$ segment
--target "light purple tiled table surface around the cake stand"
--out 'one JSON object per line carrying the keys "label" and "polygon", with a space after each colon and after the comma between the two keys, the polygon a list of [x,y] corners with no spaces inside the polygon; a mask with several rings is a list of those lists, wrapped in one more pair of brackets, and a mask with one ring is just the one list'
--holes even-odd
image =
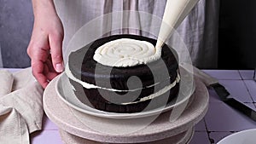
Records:
{"label": "light purple tiled table surface around the cake stand", "polygon": [[[15,71],[15,69],[10,69]],[[256,110],[256,82],[253,70],[204,70],[229,90],[230,95]],[[213,89],[208,112],[195,125],[195,134],[190,144],[215,144],[225,136],[241,130],[256,129],[256,122],[218,99]],[[32,144],[62,144],[57,126],[44,115],[43,130],[31,135]]]}

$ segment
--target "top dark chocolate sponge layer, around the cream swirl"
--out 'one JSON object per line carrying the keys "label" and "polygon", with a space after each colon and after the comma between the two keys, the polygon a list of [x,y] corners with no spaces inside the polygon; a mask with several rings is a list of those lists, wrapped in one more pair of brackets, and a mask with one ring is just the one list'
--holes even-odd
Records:
{"label": "top dark chocolate sponge layer, around the cream swirl", "polygon": [[[166,44],[162,48],[161,60],[155,60],[147,65],[127,67],[103,66],[93,60],[96,49],[104,43],[119,38],[132,38],[148,41],[155,45],[156,40],[136,35],[113,35],[103,37],[90,43],[69,55],[69,68],[74,77],[81,79],[88,84],[94,84],[108,89],[128,89],[127,80],[131,76],[140,78],[143,88],[158,82],[165,81],[162,70],[167,69],[171,83],[177,76],[177,54]],[[97,72],[95,72],[97,69]],[[154,72],[154,74],[152,73]],[[110,74],[106,74],[110,73]],[[156,81],[157,80],[157,81]],[[97,83],[96,83],[97,82]]]}

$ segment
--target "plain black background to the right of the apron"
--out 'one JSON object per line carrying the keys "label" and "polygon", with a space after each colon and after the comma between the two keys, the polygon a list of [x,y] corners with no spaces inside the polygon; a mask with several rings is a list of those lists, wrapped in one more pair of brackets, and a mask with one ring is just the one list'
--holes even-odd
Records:
{"label": "plain black background to the right of the apron", "polygon": [[256,68],[255,0],[220,1],[218,68]]}

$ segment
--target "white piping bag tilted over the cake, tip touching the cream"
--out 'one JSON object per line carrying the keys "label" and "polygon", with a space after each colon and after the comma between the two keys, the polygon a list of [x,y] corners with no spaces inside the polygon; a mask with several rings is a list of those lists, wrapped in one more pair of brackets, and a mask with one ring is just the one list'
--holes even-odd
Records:
{"label": "white piping bag tilted over the cake, tip touching the cream", "polygon": [[189,12],[199,0],[167,0],[166,9],[158,34],[156,49],[160,49],[166,39],[172,36]]}

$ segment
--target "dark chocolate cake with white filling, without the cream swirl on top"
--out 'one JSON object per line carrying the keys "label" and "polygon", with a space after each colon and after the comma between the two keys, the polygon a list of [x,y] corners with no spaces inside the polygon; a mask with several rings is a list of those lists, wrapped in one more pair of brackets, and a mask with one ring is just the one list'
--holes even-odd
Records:
{"label": "dark chocolate cake with white filling, without the cream swirl on top", "polygon": [[179,70],[177,54],[166,44],[160,59],[136,66],[106,66],[94,60],[103,44],[129,38],[155,45],[156,40],[137,35],[102,37],[69,55],[65,72],[79,101],[105,112],[142,112],[177,97]]}

